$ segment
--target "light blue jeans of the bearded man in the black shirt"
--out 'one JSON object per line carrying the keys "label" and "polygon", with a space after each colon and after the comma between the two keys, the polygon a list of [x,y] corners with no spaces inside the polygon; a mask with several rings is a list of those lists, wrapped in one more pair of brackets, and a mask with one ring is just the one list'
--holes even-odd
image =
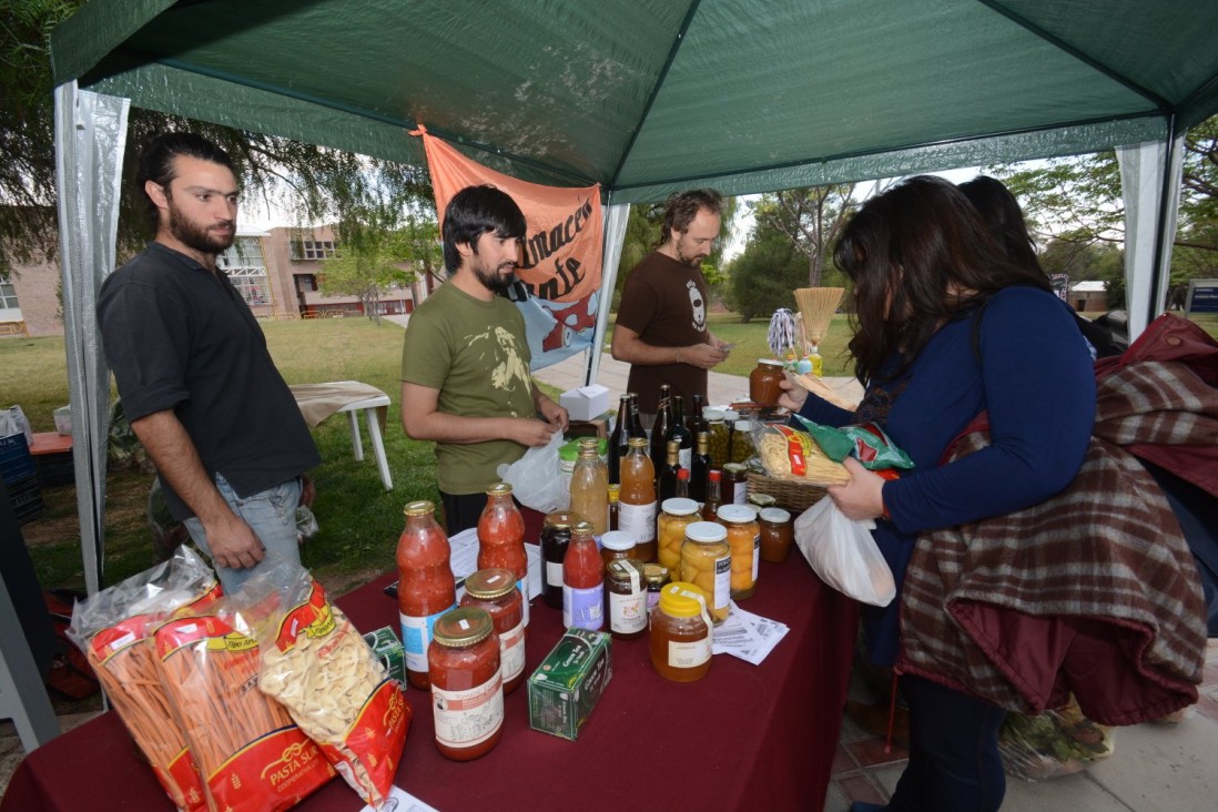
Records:
{"label": "light blue jeans of the bearded man in the black shirt", "polygon": [[[253,534],[267,548],[267,554],[262,561],[242,570],[218,566],[212,560],[212,566],[216,567],[216,575],[219,576],[220,584],[224,587],[227,594],[233,594],[252,576],[278,561],[287,560],[300,566],[301,551],[296,533],[296,506],[301,500],[300,477],[294,477],[286,482],[280,482],[273,488],[267,488],[261,493],[253,493],[242,498],[236,494],[233,486],[228,483],[228,480],[217,474],[216,489],[224,497],[224,502],[233,509],[233,513],[250,526]],[[199,545],[199,549],[207,558],[212,558],[212,550],[207,545],[207,532],[203,530],[203,523],[199,521],[199,517],[191,516],[184,523],[190,532],[190,537]]]}

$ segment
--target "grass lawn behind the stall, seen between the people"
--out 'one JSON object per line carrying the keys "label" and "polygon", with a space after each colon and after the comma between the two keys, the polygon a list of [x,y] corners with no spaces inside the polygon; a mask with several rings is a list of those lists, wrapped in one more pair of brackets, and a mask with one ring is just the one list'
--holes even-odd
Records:
{"label": "grass lawn behind the stall, seen between the people", "polygon": [[[1195,317],[1218,337],[1218,315]],[[741,324],[730,313],[713,313],[711,329],[736,342],[717,371],[748,375],[758,358],[769,357],[769,320]],[[313,511],[320,531],[302,555],[306,566],[336,594],[359,586],[393,566],[402,530],[402,506],[414,499],[438,499],[431,443],[407,439],[398,409],[398,364],[403,331],[389,321],[367,319],[264,323],[267,342],[284,377],[291,383],[356,380],[390,394],[385,450],[393,476],[386,492],[370,453],[357,463],[345,415],[335,415],[313,431],[323,463],[312,471],[317,482]],[[834,317],[821,353],[826,375],[850,375],[845,352],[850,327]],[[68,402],[63,340],[0,340],[0,404],[21,404],[34,431],[54,431],[52,411]],[[547,388],[557,394],[553,387]],[[365,449],[367,452],[367,449]],[[106,583],[114,583],[152,564],[146,500],[152,475],[111,470],[106,480]],[[46,589],[84,589],[80,564],[76,488],[43,488],[43,517],[22,528],[39,581]]]}

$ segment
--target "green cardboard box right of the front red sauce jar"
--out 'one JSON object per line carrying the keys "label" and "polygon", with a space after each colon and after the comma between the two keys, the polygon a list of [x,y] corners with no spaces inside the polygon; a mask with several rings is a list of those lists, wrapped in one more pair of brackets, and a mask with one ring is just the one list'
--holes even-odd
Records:
{"label": "green cardboard box right of the front red sauce jar", "polygon": [[575,741],[611,677],[609,634],[568,629],[529,677],[529,727]]}

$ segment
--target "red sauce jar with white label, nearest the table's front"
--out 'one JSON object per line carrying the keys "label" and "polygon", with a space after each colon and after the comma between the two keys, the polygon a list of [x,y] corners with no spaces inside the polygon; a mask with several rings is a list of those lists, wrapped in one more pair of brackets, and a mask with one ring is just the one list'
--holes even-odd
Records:
{"label": "red sauce jar with white label, nearest the table's front", "polygon": [[503,735],[499,638],[485,610],[465,606],[440,616],[428,674],[436,749],[453,761],[485,756]]}

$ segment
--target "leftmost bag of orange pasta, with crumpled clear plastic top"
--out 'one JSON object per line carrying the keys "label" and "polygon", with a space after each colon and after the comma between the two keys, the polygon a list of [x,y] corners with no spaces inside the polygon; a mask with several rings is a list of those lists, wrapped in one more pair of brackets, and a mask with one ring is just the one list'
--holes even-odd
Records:
{"label": "leftmost bag of orange pasta, with crumpled clear plastic top", "polygon": [[173,723],[149,638],[174,612],[206,609],[219,595],[211,567],[179,547],[168,561],[78,603],[67,629],[169,800],[188,812],[206,808],[203,784]]}

